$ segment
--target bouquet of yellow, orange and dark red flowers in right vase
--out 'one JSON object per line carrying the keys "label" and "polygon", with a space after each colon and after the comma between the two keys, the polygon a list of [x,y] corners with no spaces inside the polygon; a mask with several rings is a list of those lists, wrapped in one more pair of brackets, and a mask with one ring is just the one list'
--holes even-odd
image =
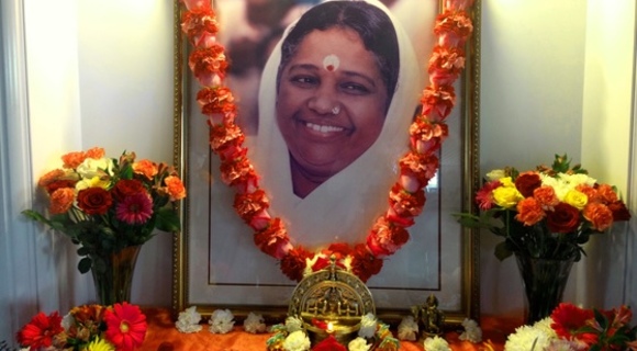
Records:
{"label": "bouquet of yellow, orange and dark red flowers in right vase", "polygon": [[[456,215],[467,227],[487,228],[504,238],[495,256],[513,252],[532,258],[579,261],[592,234],[606,231],[630,213],[615,188],[599,183],[567,155],[556,155],[551,167],[519,172],[513,167],[487,174],[476,194],[480,215]],[[496,225],[494,218],[502,225]]]}

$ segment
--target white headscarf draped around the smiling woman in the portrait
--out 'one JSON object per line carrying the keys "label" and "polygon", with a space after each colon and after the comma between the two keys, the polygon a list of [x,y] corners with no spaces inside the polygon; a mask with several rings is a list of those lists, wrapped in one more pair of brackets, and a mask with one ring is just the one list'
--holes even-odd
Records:
{"label": "white headscarf draped around the smiling woman in the portrait", "polygon": [[388,208],[389,191],[398,180],[398,160],[409,147],[409,126],[418,104],[422,70],[410,38],[389,10],[379,1],[366,2],[382,9],[396,32],[400,69],[395,93],[375,144],[304,199],[293,193],[289,151],[276,121],[281,42],[294,23],[275,47],[261,77],[259,131],[250,157],[261,176],[260,184],[269,194],[270,214],[286,222],[294,245],[306,248],[361,242],[376,218]]}

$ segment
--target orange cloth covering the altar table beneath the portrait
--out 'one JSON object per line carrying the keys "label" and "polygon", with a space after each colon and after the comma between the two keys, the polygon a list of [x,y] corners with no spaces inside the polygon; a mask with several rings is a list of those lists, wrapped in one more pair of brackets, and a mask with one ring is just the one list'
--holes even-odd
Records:
{"label": "orange cloth covering the altar table beneath the portrait", "polygon": [[[208,330],[208,325],[203,325],[202,330],[194,333],[182,333],[175,327],[175,319],[170,310],[163,308],[144,308],[144,314],[148,322],[146,339],[139,349],[141,351],[265,351],[266,341],[271,333],[249,333],[243,330],[242,326],[235,326],[228,333],[212,333]],[[519,324],[514,320],[498,318],[482,318],[481,343],[471,343],[458,339],[459,332],[448,332],[445,339],[454,351],[481,351],[503,350],[506,336],[511,333]],[[401,349],[405,351],[423,351],[423,342],[401,341]]]}

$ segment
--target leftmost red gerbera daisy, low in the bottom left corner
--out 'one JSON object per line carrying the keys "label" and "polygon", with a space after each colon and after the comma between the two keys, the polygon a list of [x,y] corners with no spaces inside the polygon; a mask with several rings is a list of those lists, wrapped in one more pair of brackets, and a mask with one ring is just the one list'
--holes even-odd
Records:
{"label": "leftmost red gerbera daisy, low in the bottom left corner", "polygon": [[35,315],[31,321],[18,332],[18,342],[22,347],[32,350],[48,348],[53,343],[53,337],[64,331],[62,317],[57,312],[46,316],[44,313]]}

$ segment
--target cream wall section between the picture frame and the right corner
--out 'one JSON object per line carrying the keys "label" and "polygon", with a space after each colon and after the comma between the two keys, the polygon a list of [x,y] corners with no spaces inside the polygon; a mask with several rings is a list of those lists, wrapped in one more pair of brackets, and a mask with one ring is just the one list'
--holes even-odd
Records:
{"label": "cream wall section between the picture frame and the right corner", "polygon": [[[519,170],[581,155],[586,2],[488,0],[482,3],[480,167]],[[493,256],[500,241],[481,235],[483,314],[521,316],[514,259]],[[506,282],[506,283],[503,283]],[[569,279],[565,298],[574,297]]]}

